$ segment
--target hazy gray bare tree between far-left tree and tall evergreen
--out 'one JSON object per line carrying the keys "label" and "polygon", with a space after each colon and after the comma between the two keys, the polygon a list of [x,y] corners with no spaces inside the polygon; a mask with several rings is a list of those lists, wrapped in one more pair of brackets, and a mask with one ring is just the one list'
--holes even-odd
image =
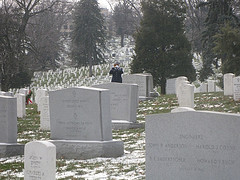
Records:
{"label": "hazy gray bare tree between far-left tree and tall evergreen", "polygon": [[[46,6],[46,4],[42,4]],[[47,10],[32,17],[27,27],[27,34],[32,42],[33,51],[29,58],[34,60],[34,70],[55,69],[56,60],[64,49],[62,26],[69,20],[73,5],[69,2],[57,3],[54,10]]]}

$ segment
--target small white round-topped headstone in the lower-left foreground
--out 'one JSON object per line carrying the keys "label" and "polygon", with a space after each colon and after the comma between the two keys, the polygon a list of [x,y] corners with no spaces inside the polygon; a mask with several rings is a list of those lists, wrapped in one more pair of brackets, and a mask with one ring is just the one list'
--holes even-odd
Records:
{"label": "small white round-topped headstone in the lower-left foreground", "polygon": [[25,145],[24,180],[56,179],[56,147],[48,141],[33,141]]}

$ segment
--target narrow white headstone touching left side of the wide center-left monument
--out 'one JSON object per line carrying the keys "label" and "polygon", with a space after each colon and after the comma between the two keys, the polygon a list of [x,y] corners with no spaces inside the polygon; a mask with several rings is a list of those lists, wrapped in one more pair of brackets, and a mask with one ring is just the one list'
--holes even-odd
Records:
{"label": "narrow white headstone touching left side of the wide center-left monument", "polygon": [[49,96],[42,97],[40,102],[40,129],[50,130]]}

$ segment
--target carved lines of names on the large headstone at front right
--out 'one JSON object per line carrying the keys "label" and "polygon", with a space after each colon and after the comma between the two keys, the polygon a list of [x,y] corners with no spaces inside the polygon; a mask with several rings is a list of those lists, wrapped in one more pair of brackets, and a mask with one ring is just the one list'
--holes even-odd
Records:
{"label": "carved lines of names on the large headstone at front right", "polygon": [[[185,140],[188,140],[186,143]],[[199,156],[196,156],[196,158],[193,160],[189,156],[159,156],[159,155],[151,155],[149,156],[149,161],[154,161],[157,163],[181,163],[181,166],[179,166],[179,170],[181,171],[190,171],[190,170],[201,170],[205,171],[207,170],[204,167],[201,166],[211,166],[212,168],[225,168],[226,166],[232,166],[235,164],[234,159],[222,159],[221,154],[222,153],[236,153],[239,148],[236,145],[228,145],[228,144],[206,144],[207,137],[204,138],[203,134],[180,134],[177,139],[175,139],[174,143],[147,143],[146,147],[151,151],[160,151],[165,152],[166,154],[175,154],[174,152],[180,152],[179,154],[185,154],[187,153],[181,153],[187,152],[187,151],[194,151],[194,152],[200,152]],[[206,158],[201,157],[200,154],[204,153],[214,153],[215,155],[219,156],[218,158]],[[162,153],[159,153],[162,154]],[[196,164],[196,167],[188,167],[188,164],[193,161],[194,164]],[[185,164],[185,167],[183,167],[183,164]]]}

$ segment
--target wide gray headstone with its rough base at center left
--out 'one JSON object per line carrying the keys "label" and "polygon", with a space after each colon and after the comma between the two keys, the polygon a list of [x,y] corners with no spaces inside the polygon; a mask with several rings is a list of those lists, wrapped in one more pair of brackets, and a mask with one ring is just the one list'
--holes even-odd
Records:
{"label": "wide gray headstone with its rough base at center left", "polygon": [[49,93],[51,141],[58,158],[119,157],[122,141],[112,140],[110,94],[100,88],[68,88]]}

